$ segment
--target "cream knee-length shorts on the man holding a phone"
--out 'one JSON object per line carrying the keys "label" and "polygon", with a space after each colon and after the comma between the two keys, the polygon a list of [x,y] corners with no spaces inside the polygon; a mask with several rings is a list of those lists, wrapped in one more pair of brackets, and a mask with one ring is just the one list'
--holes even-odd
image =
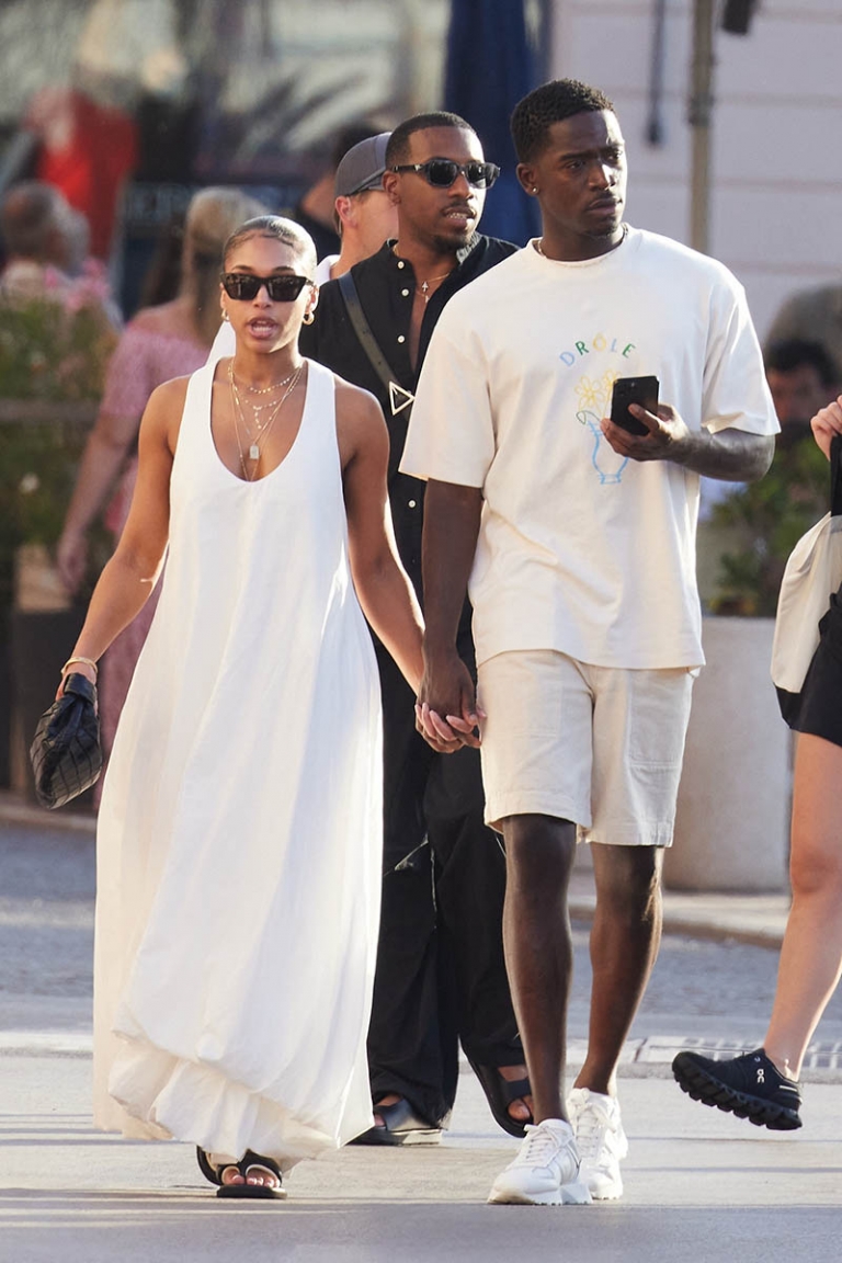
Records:
{"label": "cream knee-length shorts on the man holding a phone", "polygon": [[579,841],[669,846],[696,673],[592,667],[553,649],[483,662],[486,821],[555,816]]}

